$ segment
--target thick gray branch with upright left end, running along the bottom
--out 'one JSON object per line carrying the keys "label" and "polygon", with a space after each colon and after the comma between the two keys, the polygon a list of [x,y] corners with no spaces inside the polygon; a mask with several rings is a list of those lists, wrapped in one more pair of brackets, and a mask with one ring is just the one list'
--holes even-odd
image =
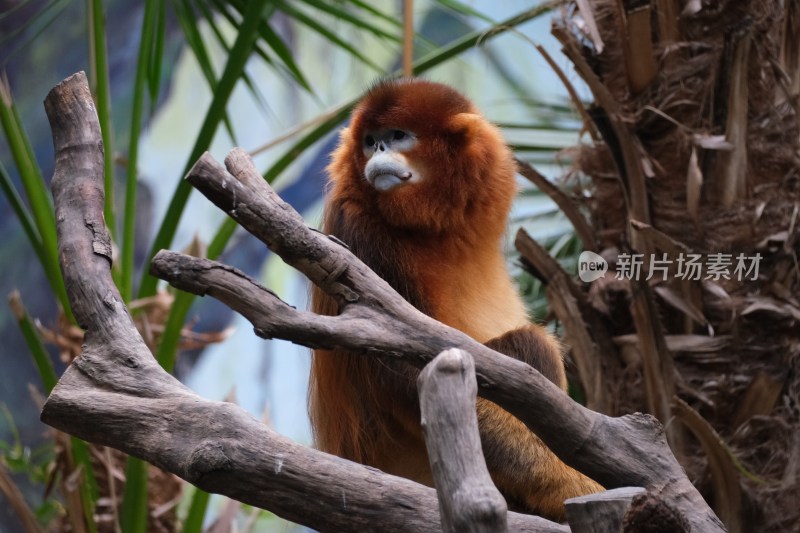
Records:
{"label": "thick gray branch with upright left end, running along the bottom", "polygon": [[[86,338],[42,420],[318,530],[441,531],[433,489],[300,446],[236,405],[198,397],[156,363],[111,279],[102,143],[83,73],[56,86],[45,106],[59,257]],[[508,522],[519,531],[563,531],[517,513]]]}

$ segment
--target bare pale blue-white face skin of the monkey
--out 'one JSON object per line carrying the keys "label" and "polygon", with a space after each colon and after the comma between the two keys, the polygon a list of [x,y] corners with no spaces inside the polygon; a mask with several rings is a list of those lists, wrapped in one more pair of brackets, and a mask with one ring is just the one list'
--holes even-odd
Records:
{"label": "bare pale blue-white face skin of the monkey", "polygon": [[367,164],[364,178],[381,192],[422,180],[403,152],[417,144],[417,137],[407,130],[382,129],[364,135],[364,155]]}

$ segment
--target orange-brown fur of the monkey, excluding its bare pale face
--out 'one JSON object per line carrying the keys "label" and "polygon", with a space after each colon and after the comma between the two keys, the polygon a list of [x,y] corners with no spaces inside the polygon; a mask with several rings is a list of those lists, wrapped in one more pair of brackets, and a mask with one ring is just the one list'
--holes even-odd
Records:
{"label": "orange-brown fur of the monkey, excluding its bare pale face", "polygon": [[[403,155],[421,172],[419,183],[378,191],[364,178],[362,140],[381,128],[417,136]],[[341,134],[328,167],[322,229],[421,311],[533,364],[564,388],[558,343],[529,324],[505,268],[501,241],[516,194],[514,168],[497,128],[455,90],[421,80],[384,82],[367,93]],[[312,304],[318,313],[339,312],[319,290]],[[317,445],[431,484],[417,374],[397,362],[315,351],[309,410]],[[558,517],[563,497],[599,489],[491,402],[479,399],[478,415],[490,472],[511,502]]]}

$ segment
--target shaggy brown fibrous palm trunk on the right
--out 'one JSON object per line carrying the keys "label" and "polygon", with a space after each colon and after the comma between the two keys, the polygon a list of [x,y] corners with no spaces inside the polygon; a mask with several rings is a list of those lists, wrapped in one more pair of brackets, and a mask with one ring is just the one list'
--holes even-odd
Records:
{"label": "shaggy brown fibrous palm trunk on the right", "polygon": [[586,128],[599,138],[566,185],[589,215],[584,245],[609,264],[548,290],[577,378],[596,408],[665,424],[729,531],[796,531],[800,2],[579,0],[564,12],[553,31],[592,92]]}

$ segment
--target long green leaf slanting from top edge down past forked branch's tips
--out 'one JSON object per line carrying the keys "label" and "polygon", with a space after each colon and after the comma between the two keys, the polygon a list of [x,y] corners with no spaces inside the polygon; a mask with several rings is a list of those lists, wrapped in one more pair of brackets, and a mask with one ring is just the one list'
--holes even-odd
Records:
{"label": "long green leaf slanting from top edge down past forked branch's tips", "polygon": [[[231,53],[228,56],[228,61],[225,65],[225,70],[217,85],[217,91],[209,106],[208,113],[206,113],[205,121],[200,128],[200,133],[195,141],[194,148],[189,155],[189,160],[183,171],[183,175],[189,172],[195,161],[202,155],[202,153],[211,144],[214,138],[217,126],[222,118],[225,116],[225,108],[233,92],[236,82],[241,78],[244,71],[247,59],[253,51],[256,38],[258,37],[258,24],[261,20],[266,9],[270,11],[274,8],[270,6],[269,0],[251,0],[247,5],[244,19],[242,21],[239,35],[236,37]],[[167,213],[158,230],[153,245],[148,253],[148,261],[162,248],[169,247],[175,236],[178,221],[183,214],[183,209],[189,199],[191,187],[183,180],[178,183],[175,193],[172,196],[172,201],[167,208]],[[141,287],[139,288],[139,296],[152,296],[156,291],[156,284],[158,280],[151,276],[145,269],[142,278]]]}

